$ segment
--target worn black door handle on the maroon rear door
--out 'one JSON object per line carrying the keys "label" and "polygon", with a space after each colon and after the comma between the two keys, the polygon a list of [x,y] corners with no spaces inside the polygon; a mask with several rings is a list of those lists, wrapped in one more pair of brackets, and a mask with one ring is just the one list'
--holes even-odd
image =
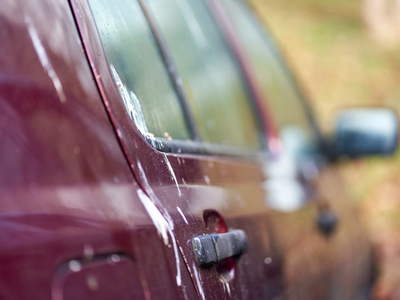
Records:
{"label": "worn black door handle on the maroon rear door", "polygon": [[226,233],[211,233],[191,239],[194,256],[199,267],[212,265],[225,258],[243,254],[248,248],[247,235],[236,229]]}

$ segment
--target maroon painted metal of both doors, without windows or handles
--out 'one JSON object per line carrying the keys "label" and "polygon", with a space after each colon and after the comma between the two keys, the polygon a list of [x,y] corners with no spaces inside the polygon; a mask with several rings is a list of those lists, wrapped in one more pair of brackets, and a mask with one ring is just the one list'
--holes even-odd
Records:
{"label": "maroon painted metal of both doors, without windows or handles", "polygon": [[[81,5],[79,9],[88,8],[85,3]],[[325,193],[326,186],[340,186],[340,182],[334,182],[334,173],[326,169],[330,175],[316,179],[322,183],[308,182],[301,187],[309,190],[305,203],[291,212],[279,212],[270,209],[269,198],[274,196],[265,187],[269,180],[281,175],[273,172],[282,159],[279,155],[268,163],[265,157],[238,159],[155,151],[128,118],[106,61],[101,55],[95,55],[102,50],[100,40],[92,35],[95,24],[90,18],[78,19],[78,23],[132,170],[164,217],[172,220],[179,250],[200,298],[268,298],[276,294],[289,298],[303,294],[315,299],[352,298],[360,287],[367,286],[369,246],[359,224],[353,223],[354,214],[345,203],[345,195],[339,195],[344,201],[337,201],[332,195],[327,199],[319,196],[320,190]],[[241,59],[245,65],[245,57]],[[325,172],[322,167],[320,173]],[[300,177],[294,174],[293,179],[300,180]],[[318,196],[311,199],[312,194]],[[331,238],[323,236],[316,226],[319,207],[328,207],[340,217],[338,232]],[[194,263],[188,241],[207,232],[202,222],[205,210],[220,213],[230,228],[250,232],[250,252],[238,260],[230,281],[221,279],[213,267],[198,269]],[[346,243],[353,239],[360,240],[360,247],[351,253],[345,249]]]}

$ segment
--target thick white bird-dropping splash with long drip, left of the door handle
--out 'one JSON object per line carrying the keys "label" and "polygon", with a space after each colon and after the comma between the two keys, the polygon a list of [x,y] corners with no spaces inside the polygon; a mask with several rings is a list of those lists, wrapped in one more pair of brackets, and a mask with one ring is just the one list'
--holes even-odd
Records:
{"label": "thick white bird-dropping splash with long drip, left of the door handle", "polygon": [[169,238],[167,233],[169,233],[171,237],[173,250],[175,252],[175,260],[176,260],[176,284],[180,286],[182,284],[182,280],[180,277],[180,261],[179,261],[179,253],[176,245],[175,236],[173,235],[172,232],[173,227],[170,226],[168,221],[158,210],[157,206],[155,206],[155,204],[141,189],[137,190],[137,195],[139,196],[140,201],[143,203],[147,213],[150,215],[150,218],[153,221],[154,226],[157,228],[158,233],[162,236],[165,245],[169,245]]}

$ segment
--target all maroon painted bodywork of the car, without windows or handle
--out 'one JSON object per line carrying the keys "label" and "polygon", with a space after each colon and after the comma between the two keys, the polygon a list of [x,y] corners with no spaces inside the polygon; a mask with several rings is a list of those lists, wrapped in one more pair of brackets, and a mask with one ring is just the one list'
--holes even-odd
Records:
{"label": "all maroon painted bodywork of the car, without windows or handle", "polygon": [[[6,0],[0,34],[1,298],[351,299],[367,283],[369,245],[334,170],[318,166],[301,185],[314,196],[278,211],[267,186],[279,156],[144,140],[86,1]],[[326,207],[339,218],[330,237],[315,225]],[[191,238],[229,229],[248,251],[198,268]]]}

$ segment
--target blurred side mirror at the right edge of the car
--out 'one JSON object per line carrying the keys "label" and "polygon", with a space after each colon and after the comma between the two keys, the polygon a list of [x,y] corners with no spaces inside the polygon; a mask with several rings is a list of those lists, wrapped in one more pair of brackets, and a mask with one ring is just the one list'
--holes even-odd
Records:
{"label": "blurred side mirror at the right edge of the car", "polygon": [[329,152],[340,156],[391,155],[397,148],[398,120],[388,108],[342,110],[336,118]]}

